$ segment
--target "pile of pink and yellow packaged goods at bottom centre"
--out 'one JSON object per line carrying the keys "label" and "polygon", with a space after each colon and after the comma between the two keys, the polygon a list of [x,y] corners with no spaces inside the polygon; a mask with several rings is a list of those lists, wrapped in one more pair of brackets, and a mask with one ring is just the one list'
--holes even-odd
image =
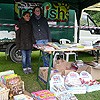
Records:
{"label": "pile of pink and yellow packaged goods at bottom centre", "polygon": [[35,100],[57,100],[52,92],[49,90],[41,90],[37,92],[32,92],[32,97]]}

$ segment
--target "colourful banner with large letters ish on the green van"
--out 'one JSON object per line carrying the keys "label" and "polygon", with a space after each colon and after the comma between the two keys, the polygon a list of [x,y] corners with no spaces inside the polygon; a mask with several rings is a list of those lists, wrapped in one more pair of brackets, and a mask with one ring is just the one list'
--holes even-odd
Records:
{"label": "colourful banner with large letters ish on the green van", "polygon": [[44,17],[50,21],[68,21],[69,5],[50,2],[15,2],[15,19],[21,18],[25,11],[29,11],[32,15],[35,6],[41,6]]}

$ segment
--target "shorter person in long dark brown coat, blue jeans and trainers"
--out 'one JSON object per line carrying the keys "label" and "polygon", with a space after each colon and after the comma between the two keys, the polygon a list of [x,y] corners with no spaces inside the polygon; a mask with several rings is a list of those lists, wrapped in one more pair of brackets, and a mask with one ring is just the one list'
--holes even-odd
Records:
{"label": "shorter person in long dark brown coat, blue jeans and trainers", "polygon": [[23,13],[23,17],[15,25],[16,46],[22,53],[22,68],[25,74],[33,73],[31,66],[31,52],[33,45],[32,25],[29,22],[30,13]]}

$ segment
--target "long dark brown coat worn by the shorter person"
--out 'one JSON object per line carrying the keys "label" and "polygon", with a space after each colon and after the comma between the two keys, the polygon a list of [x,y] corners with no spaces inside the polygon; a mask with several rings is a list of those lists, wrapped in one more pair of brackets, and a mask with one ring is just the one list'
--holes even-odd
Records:
{"label": "long dark brown coat worn by the shorter person", "polygon": [[30,50],[33,45],[32,25],[23,18],[18,22],[16,31],[16,46],[21,50]]}

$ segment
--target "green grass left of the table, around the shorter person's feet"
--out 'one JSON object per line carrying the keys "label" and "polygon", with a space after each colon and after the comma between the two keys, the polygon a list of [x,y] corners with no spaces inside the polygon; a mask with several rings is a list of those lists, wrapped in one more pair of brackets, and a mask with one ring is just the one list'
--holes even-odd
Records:
{"label": "green grass left of the table, around the shorter person's feet", "polygon": [[8,59],[6,60],[5,54],[0,52],[0,72],[6,70],[14,70],[14,72],[21,76],[22,80],[25,83],[25,89],[28,92],[38,91],[41,90],[37,79],[37,68],[38,68],[38,56],[39,52],[35,51],[32,53],[32,69],[34,70],[34,74],[25,75],[22,71],[22,64],[21,63],[14,63]]}

